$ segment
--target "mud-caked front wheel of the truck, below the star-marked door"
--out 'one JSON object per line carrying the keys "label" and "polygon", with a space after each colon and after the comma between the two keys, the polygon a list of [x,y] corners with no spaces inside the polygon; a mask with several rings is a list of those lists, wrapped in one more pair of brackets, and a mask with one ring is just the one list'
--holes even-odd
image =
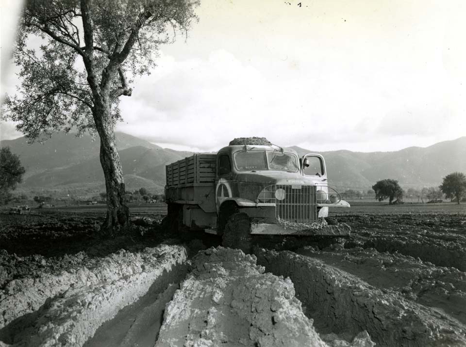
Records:
{"label": "mud-caked front wheel of the truck, below the star-marked door", "polygon": [[251,221],[246,213],[234,213],[230,216],[223,231],[222,245],[237,248],[246,254],[252,250]]}

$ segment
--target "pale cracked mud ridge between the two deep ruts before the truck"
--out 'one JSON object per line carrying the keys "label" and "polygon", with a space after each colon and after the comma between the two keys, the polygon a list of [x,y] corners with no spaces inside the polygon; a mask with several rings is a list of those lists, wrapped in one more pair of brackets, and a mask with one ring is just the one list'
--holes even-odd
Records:
{"label": "pale cracked mud ridge between the two deep ruts before the truck", "polygon": [[255,256],[201,251],[166,307],[156,346],[327,346],[294,293],[288,278],[264,273]]}

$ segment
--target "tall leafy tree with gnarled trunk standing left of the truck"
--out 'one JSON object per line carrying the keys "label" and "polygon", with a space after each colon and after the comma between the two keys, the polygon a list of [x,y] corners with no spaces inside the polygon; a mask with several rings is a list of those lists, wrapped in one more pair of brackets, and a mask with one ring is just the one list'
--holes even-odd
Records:
{"label": "tall leafy tree with gnarled trunk standing left of the truck", "polygon": [[[129,226],[129,209],[114,126],[118,100],[131,96],[133,78],[155,66],[160,44],[186,33],[197,0],[28,0],[19,23],[14,60],[19,95],[7,95],[3,117],[31,141],[53,131],[98,133],[107,191],[101,232]],[[171,34],[173,32],[173,35]],[[27,47],[40,37],[40,49]],[[129,78],[128,78],[129,76]]]}

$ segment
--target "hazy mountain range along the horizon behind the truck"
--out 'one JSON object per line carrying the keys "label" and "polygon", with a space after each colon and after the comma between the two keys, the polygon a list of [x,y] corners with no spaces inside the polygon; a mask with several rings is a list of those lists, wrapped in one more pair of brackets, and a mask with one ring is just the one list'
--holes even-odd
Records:
{"label": "hazy mountain range along the horizon behind the truck", "polygon": [[[116,144],[127,189],[145,187],[161,192],[165,186],[165,165],[192,155],[191,152],[162,148],[137,137],[117,132]],[[99,160],[100,143],[88,135],[57,133],[41,143],[28,144],[22,137],[0,142],[17,154],[26,169],[22,189],[104,190]],[[337,189],[370,189],[384,178],[399,181],[401,187],[438,186],[455,171],[466,173],[466,137],[439,142],[429,147],[409,147],[394,152],[316,152],[293,146],[300,156],[324,156],[329,182]]]}

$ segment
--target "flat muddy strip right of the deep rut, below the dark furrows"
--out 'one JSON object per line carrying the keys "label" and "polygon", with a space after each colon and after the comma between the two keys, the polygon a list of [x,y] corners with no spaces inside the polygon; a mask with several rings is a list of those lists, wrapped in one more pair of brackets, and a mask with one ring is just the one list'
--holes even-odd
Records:
{"label": "flat muddy strip right of the deep rut, below the dark furrows", "polygon": [[306,247],[296,252],[344,270],[381,290],[396,291],[406,300],[440,309],[466,324],[466,273],[456,268],[359,247],[328,252]]}

